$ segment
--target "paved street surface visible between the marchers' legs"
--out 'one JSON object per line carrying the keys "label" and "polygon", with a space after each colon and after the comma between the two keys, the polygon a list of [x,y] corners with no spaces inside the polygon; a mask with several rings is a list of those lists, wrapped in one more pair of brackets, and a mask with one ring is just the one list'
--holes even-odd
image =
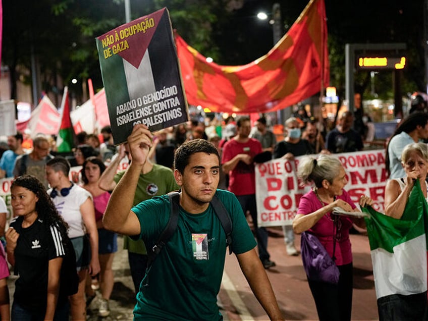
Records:
{"label": "paved street surface visible between the marchers' legs", "polygon": [[[274,287],[279,305],[288,320],[316,320],[315,304],[307,285],[301,257],[290,257],[285,252],[281,228],[270,228],[269,251],[271,259],[277,266],[267,271]],[[299,246],[300,237],[296,236]],[[123,239],[119,237],[119,248]],[[352,308],[353,320],[377,320],[376,294],[374,293],[373,275],[368,240],[365,235],[351,235],[354,255],[354,297]],[[116,253],[113,269],[115,286],[110,301],[111,314],[98,317],[98,301],[94,299],[88,309],[88,320],[132,320],[135,304],[133,285],[128,266],[128,255],[124,250]],[[13,282],[9,280],[11,297]],[[97,293],[99,296],[99,293]],[[267,316],[254,298],[243,277],[236,257],[227,255],[222,288],[219,294],[219,306],[225,320],[266,320]]]}

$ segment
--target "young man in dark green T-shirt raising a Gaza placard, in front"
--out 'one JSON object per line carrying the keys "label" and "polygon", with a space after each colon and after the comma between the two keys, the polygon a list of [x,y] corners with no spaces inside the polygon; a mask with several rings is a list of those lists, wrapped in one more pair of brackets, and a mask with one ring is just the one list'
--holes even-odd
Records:
{"label": "young man in dark green T-shirt raising a Gaza placard, in front", "polygon": [[[171,213],[167,195],[132,207],[138,177],[152,145],[151,137],[144,125],[136,125],[128,137],[132,162],[113,191],[103,218],[106,229],[143,238],[149,248],[156,244]],[[217,189],[220,164],[215,146],[203,139],[185,142],[176,151],[174,165],[174,177],[181,187],[177,228],[153,261],[153,269],[147,271],[145,286],[140,287],[137,295],[135,319],[222,319],[216,296],[227,243],[210,204],[217,195],[230,215],[230,246],[248,283],[269,317],[283,320],[237,199]]]}

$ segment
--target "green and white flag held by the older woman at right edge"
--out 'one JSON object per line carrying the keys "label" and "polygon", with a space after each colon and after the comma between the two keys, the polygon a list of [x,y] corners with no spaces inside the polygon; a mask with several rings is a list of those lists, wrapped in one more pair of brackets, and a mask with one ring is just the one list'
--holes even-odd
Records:
{"label": "green and white flag held by the older woman at right edge", "polygon": [[377,298],[427,290],[428,205],[415,184],[400,220],[363,208]]}

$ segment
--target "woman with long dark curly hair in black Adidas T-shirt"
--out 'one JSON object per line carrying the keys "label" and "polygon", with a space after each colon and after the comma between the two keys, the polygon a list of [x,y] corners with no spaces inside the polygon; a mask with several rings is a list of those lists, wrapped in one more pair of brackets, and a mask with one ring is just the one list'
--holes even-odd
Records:
{"label": "woman with long dark curly hair in black Adidas T-shirt", "polygon": [[68,225],[34,176],[15,179],[11,203],[17,217],[6,232],[7,253],[19,274],[12,320],[68,319],[67,295],[60,292]]}

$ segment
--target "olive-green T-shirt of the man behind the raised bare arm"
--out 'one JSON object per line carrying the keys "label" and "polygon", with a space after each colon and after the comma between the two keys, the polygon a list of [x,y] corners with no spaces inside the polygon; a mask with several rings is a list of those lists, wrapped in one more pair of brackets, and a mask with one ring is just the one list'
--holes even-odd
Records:
{"label": "olive-green T-shirt of the man behind the raised bare arm", "polygon": [[[115,175],[115,182],[118,183],[125,171]],[[165,166],[153,164],[153,168],[147,174],[140,174],[135,190],[134,202],[135,206],[139,202],[150,199],[153,196],[164,195],[169,192],[178,190],[173,171]],[[138,254],[147,254],[146,247],[142,240],[134,241],[128,236],[124,236],[123,248],[129,252]]]}

